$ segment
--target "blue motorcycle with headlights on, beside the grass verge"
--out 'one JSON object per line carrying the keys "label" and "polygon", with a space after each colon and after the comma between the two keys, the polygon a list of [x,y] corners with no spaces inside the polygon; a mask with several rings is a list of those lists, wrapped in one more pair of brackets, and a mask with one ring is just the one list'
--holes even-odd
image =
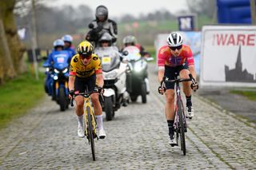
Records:
{"label": "blue motorcycle with headlights on, beside the grass verge", "polygon": [[[68,78],[69,78],[69,65],[63,57],[59,57],[54,65],[47,65],[46,76],[50,76],[49,81],[45,84],[45,89],[52,100],[56,101],[60,106],[61,111],[65,111],[69,107],[69,91],[68,91]],[[65,63],[65,64],[64,64]]]}

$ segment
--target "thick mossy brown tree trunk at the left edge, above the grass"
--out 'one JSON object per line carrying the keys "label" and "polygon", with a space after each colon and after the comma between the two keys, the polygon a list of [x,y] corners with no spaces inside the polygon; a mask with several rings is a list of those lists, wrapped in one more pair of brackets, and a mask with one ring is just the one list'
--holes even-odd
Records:
{"label": "thick mossy brown tree trunk at the left edge, above the grass", "polygon": [[22,70],[25,48],[18,38],[14,6],[15,0],[0,1],[0,83],[15,77]]}

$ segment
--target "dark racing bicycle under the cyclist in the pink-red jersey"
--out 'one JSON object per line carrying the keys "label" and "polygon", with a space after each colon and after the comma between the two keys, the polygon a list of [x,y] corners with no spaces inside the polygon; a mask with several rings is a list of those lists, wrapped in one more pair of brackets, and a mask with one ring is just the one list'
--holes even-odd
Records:
{"label": "dark racing bicycle under the cyclist in the pink-red jersey", "polygon": [[169,80],[168,77],[163,77],[162,85],[161,85],[162,88],[165,88],[166,82],[175,83],[176,104],[175,104],[175,117],[174,117],[174,132],[176,132],[177,145],[178,145],[178,138],[180,138],[181,149],[184,156],[186,155],[185,132],[187,132],[187,128],[186,128],[186,116],[184,112],[184,106],[182,103],[181,89],[180,89],[179,83],[182,81],[192,81],[192,85],[197,85],[197,83],[194,81],[194,77],[192,77],[192,74],[189,74],[189,76],[190,78],[178,78],[178,73],[176,73],[174,80]]}

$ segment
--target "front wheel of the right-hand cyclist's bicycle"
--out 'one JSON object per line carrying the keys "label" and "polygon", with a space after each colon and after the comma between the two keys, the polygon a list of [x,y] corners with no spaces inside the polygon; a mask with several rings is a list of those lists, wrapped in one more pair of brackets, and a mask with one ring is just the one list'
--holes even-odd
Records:
{"label": "front wheel of the right-hand cyclist's bicycle", "polygon": [[186,155],[186,140],[185,140],[185,127],[184,127],[184,120],[183,120],[184,109],[182,105],[182,101],[178,100],[178,124],[180,128],[180,139],[181,139],[181,149],[183,155]]}

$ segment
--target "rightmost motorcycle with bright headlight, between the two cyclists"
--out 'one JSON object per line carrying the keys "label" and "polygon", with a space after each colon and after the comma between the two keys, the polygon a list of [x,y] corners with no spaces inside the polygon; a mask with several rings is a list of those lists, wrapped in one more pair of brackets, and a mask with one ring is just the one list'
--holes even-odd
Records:
{"label": "rightmost motorcycle with bright headlight, between the two cyclists", "polygon": [[123,60],[128,61],[130,71],[127,73],[127,92],[130,100],[137,101],[138,96],[142,96],[142,103],[146,103],[146,95],[150,93],[150,82],[147,77],[147,61],[152,61],[153,57],[142,57],[138,47],[134,45],[123,49],[126,56]]}

